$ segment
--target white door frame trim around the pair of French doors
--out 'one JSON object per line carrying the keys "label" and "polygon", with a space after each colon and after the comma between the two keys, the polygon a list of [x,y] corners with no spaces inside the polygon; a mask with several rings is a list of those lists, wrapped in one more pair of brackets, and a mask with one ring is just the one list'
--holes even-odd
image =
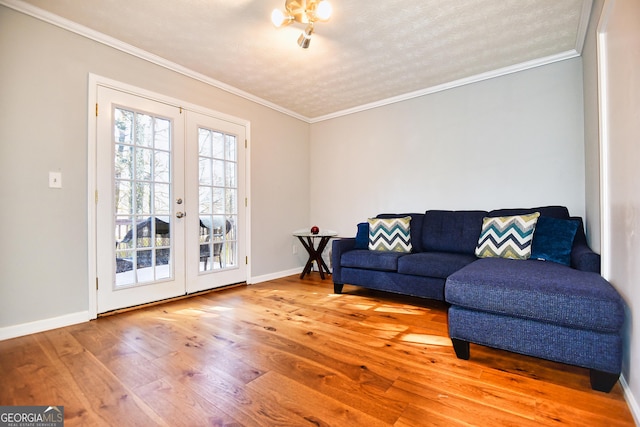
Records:
{"label": "white door frame trim around the pair of French doors", "polygon": [[169,96],[158,94],[156,92],[148,91],[136,86],[132,86],[126,83],[122,83],[116,80],[112,80],[106,77],[102,77],[93,73],[89,74],[89,96],[88,96],[88,126],[87,126],[87,287],[89,291],[89,318],[95,319],[98,317],[98,301],[97,301],[97,128],[98,119],[96,112],[98,86],[104,86],[111,89],[127,92],[132,95],[142,96],[151,99],[156,102],[175,105],[184,110],[198,112],[213,116],[220,120],[225,120],[231,123],[235,123],[244,126],[246,129],[245,136],[247,140],[245,153],[245,194],[246,194],[246,217],[245,224],[243,224],[246,233],[244,245],[246,248],[247,265],[246,265],[246,281],[249,284],[249,278],[251,277],[251,165],[250,165],[250,148],[251,148],[251,123],[248,120],[240,119],[228,114],[220,113],[199,105],[184,102]]}

